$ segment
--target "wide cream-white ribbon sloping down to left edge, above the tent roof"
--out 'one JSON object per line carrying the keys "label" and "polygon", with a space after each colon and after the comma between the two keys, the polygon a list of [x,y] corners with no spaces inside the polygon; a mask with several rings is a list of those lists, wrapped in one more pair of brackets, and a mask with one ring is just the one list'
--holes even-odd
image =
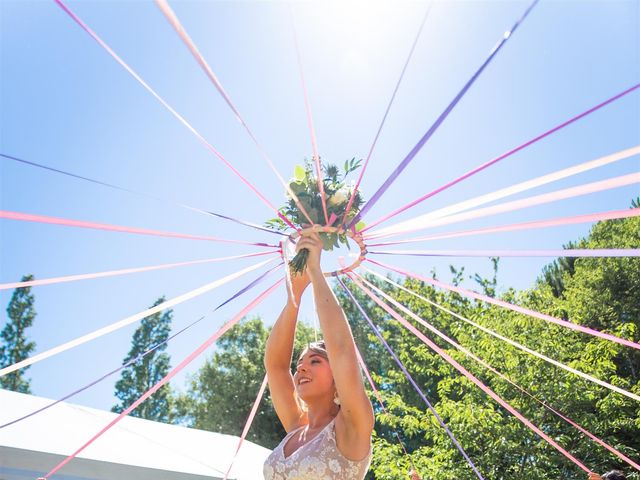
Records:
{"label": "wide cream-white ribbon sloping down to left edge, above the tent roof", "polygon": [[53,347],[49,350],[45,350],[42,353],[38,353],[20,362],[14,363],[13,365],[9,365],[8,367],[5,367],[0,370],[0,377],[8,373],[11,373],[15,370],[19,370],[21,368],[28,367],[29,365],[33,365],[34,363],[40,362],[46,358],[65,352],[71,348],[77,347],[91,340],[95,340],[96,338],[99,338],[108,333],[115,332],[116,330],[126,327],[127,325],[130,325],[132,323],[135,323],[138,320],[142,320],[143,318],[148,317],[149,315],[153,315],[154,313],[161,312],[162,310],[178,305],[179,303],[182,303],[186,300],[191,300],[192,298],[202,295],[203,293],[210,292],[211,290],[214,290],[226,283],[229,283],[230,281],[235,280],[236,278],[241,277],[253,270],[257,270],[258,268],[263,267],[275,260],[277,260],[277,258],[272,258],[270,260],[257,263],[256,265],[245,268],[244,270],[240,270],[239,272],[235,272],[235,273],[232,273],[231,275],[227,275],[226,277],[218,279],[215,282],[211,282],[207,285],[196,288],[195,290],[191,290],[190,292],[174,297],[171,300],[162,302],[161,304],[156,305],[155,307],[149,308],[147,310],[143,310],[142,312],[131,315],[130,317],[127,317],[123,320],[112,323],[111,325],[108,325],[103,328],[99,328],[98,330],[94,330],[91,333],[78,337],[74,340],[70,340],[66,343],[58,345],[57,347]]}

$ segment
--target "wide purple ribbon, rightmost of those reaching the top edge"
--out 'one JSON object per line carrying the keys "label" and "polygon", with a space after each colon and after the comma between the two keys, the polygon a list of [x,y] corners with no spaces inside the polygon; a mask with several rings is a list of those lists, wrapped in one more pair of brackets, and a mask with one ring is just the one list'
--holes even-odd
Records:
{"label": "wide purple ribbon, rightmost of those reaching the top edge", "polygon": [[[371,209],[371,207],[373,207],[376,204],[376,202],[378,200],[380,200],[380,197],[382,196],[382,194],[387,191],[387,189],[395,181],[395,179],[398,177],[398,175],[400,175],[400,173],[406,168],[406,166],[409,165],[409,163],[415,158],[415,156],[422,149],[424,144],[427,143],[427,141],[435,133],[435,131],[438,129],[438,127],[440,127],[442,122],[444,122],[444,120],[449,116],[449,113],[451,113],[453,108],[458,104],[458,102],[462,99],[462,97],[467,93],[467,90],[469,90],[469,88],[471,88],[471,85],[473,85],[473,83],[480,76],[480,74],[483,72],[483,70],[489,65],[489,63],[491,63],[491,60],[493,60],[493,58],[500,51],[500,49],[502,49],[502,47],[505,45],[505,43],[507,43],[507,40],[509,40],[509,38],[511,38],[511,35],[516,31],[518,26],[525,20],[525,18],[527,18],[527,15],[529,15],[529,12],[531,12],[533,7],[535,7],[537,3],[538,3],[538,0],[533,0],[533,2],[531,2],[529,7],[525,10],[524,14],[513,24],[513,26],[511,27],[511,30],[508,30],[508,31],[506,31],[504,33],[504,35],[502,36],[502,39],[496,44],[495,47],[493,47],[493,49],[489,53],[489,56],[484,61],[484,63],[480,66],[480,68],[478,68],[478,70],[476,70],[476,72],[467,81],[467,83],[464,85],[464,87],[462,87],[462,90],[460,90],[460,92],[458,92],[458,94],[454,97],[454,99],[451,101],[451,103],[449,103],[449,105],[444,110],[444,112],[442,112],[440,114],[440,116],[436,119],[435,123],[429,128],[429,130],[427,130],[427,132],[422,136],[422,138],[418,141],[418,143],[411,149],[411,151],[404,158],[404,160],[402,160],[402,162],[400,162],[400,164],[391,173],[391,175],[389,175],[389,178],[387,178],[384,181],[384,183],[380,186],[380,188],[378,188],[376,193],[373,194],[373,196],[369,199],[369,201],[362,208],[362,210],[360,210],[360,213],[358,213],[358,215],[356,215],[356,217],[351,221],[351,223],[349,224],[349,228],[351,228],[354,225],[356,225],[360,221],[360,219],[366,215],[366,213],[369,211],[369,209]],[[368,230],[369,228],[371,228],[371,226],[365,228],[364,230]]]}

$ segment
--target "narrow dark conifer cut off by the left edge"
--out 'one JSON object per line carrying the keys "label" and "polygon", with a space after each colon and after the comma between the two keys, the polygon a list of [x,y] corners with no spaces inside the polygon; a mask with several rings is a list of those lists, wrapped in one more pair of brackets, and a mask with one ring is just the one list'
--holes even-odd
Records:
{"label": "narrow dark conifer cut off by the left edge", "polygon": [[[22,277],[23,282],[33,280],[33,275]],[[9,321],[0,332],[0,366],[7,367],[27,358],[36,348],[35,342],[28,341],[26,330],[33,325],[36,311],[31,287],[16,288],[7,307]],[[0,386],[21,393],[31,393],[30,380],[24,378],[25,370],[16,370],[0,377]]]}

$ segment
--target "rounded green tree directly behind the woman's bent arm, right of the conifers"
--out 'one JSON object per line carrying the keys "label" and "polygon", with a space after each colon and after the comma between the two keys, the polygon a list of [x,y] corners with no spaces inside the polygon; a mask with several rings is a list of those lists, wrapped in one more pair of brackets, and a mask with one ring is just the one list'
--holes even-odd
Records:
{"label": "rounded green tree directly behind the woman's bent arm, right of the conifers", "polygon": [[[262,319],[244,319],[217,343],[216,352],[191,379],[177,401],[183,423],[240,435],[265,375],[263,356],[269,331]],[[298,323],[294,360],[314,340],[313,328]],[[274,448],[285,436],[270,395],[265,394],[247,439]]]}

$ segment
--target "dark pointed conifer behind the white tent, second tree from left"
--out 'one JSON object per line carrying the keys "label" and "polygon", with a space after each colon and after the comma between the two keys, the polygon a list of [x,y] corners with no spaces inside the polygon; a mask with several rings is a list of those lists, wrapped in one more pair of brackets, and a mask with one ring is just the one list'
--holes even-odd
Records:
{"label": "dark pointed conifer behind the white tent, second tree from left", "polygon": [[[164,301],[164,296],[160,297],[151,307]],[[125,410],[169,372],[171,359],[165,351],[166,343],[144,357],[141,355],[169,338],[172,318],[173,310],[166,310],[149,315],[140,322],[133,334],[131,350],[124,359],[124,363],[132,360],[135,362],[122,371],[120,379],[116,382],[115,396],[120,403],[112,407],[111,411],[120,413]],[[170,421],[172,394],[169,384],[163,385],[131,412],[131,415],[158,422]]]}

